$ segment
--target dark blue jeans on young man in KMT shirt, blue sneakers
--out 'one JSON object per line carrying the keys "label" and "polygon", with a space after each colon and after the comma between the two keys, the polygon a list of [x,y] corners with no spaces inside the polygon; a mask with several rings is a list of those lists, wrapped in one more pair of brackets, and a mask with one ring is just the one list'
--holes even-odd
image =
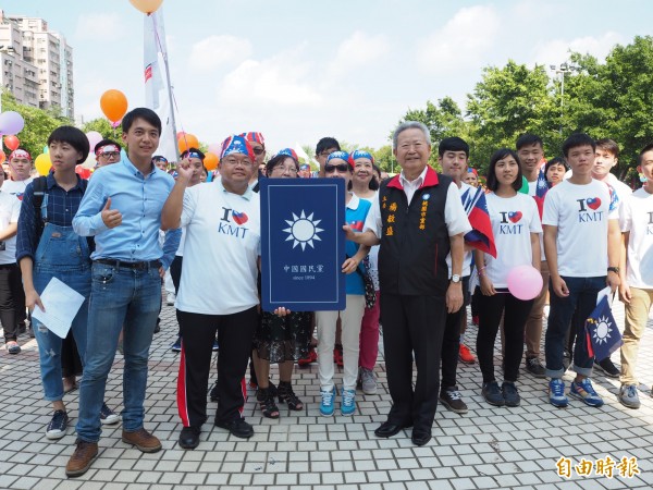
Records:
{"label": "dark blue jeans on young man in KMT shirt, blue sneakers", "polygon": [[[563,355],[565,352],[565,338],[567,329],[576,332],[576,346],[574,347],[574,370],[582,376],[592,376],[594,358],[588,353],[588,339],[584,333],[584,321],[596,307],[596,294],[605,287],[605,275],[596,278],[566,278],[569,295],[558,297],[549,284],[551,310],[549,314],[549,327],[544,344],[546,357],[546,376],[550,378],[562,378],[565,373]],[[569,326],[574,314],[579,321]]]}

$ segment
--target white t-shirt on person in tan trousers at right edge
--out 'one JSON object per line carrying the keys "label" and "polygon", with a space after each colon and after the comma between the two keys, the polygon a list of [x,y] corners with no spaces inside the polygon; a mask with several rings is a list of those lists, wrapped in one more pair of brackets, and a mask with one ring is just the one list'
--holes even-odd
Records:
{"label": "white t-shirt on person in tan trousers at right edge", "polygon": [[637,189],[621,201],[619,226],[630,232],[626,280],[633,287],[653,290],[653,194]]}

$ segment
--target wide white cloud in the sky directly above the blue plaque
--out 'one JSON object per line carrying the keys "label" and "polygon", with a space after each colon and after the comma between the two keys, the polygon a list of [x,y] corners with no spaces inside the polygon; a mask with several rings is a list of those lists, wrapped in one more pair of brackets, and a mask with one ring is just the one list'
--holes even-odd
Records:
{"label": "wide white cloud in the sky directly above the blue plaque", "polygon": [[286,107],[316,107],[322,96],[309,79],[310,64],[301,60],[303,49],[282,51],[262,61],[246,60],[224,76],[219,88],[222,103]]}

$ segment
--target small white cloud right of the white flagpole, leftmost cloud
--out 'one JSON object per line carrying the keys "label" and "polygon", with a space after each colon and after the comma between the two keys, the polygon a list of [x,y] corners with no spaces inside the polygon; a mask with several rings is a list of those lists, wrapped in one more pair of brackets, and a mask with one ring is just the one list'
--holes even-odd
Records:
{"label": "small white cloud right of the white flagpole, leftmost cloud", "polygon": [[194,70],[209,72],[222,64],[247,59],[251,51],[248,39],[213,35],[193,45],[188,64]]}

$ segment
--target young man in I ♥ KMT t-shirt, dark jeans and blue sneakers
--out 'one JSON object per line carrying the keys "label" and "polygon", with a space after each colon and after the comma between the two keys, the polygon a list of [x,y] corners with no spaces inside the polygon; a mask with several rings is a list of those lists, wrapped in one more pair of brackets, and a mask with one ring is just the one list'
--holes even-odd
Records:
{"label": "young man in I \u2665 KMT t-shirt, dark jeans and blue sneakers", "polygon": [[[574,370],[577,376],[569,395],[590,406],[603,405],[592,388],[593,357],[589,356],[583,323],[596,305],[596,294],[605,285],[619,285],[620,232],[616,206],[609,191],[592,179],[596,144],[587,134],[572,134],[563,144],[571,167],[571,176],[551,188],[544,200],[544,249],[551,273],[551,313],[544,352],[549,400],[554,406],[567,406],[563,375],[565,333],[572,324],[577,333]],[[607,277],[606,277],[607,275]]]}

